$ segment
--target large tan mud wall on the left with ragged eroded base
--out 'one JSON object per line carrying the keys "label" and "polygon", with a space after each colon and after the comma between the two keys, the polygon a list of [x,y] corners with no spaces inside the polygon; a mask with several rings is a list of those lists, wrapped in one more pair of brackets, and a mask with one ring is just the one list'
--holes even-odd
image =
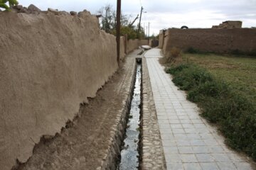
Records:
{"label": "large tan mud wall on the left with ragged eroded base", "polygon": [[3,170],[26,162],[117,70],[115,37],[89,12],[78,16],[0,12]]}

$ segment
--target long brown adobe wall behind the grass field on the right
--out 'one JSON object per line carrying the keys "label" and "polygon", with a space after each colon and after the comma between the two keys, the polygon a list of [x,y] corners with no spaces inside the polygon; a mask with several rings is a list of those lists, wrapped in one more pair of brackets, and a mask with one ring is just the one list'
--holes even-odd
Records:
{"label": "long brown adobe wall behind the grass field on the right", "polygon": [[234,50],[241,52],[256,50],[256,29],[251,28],[169,29],[166,30],[164,37],[164,54],[171,47],[178,47],[182,50],[193,47],[201,52],[220,53],[230,53]]}

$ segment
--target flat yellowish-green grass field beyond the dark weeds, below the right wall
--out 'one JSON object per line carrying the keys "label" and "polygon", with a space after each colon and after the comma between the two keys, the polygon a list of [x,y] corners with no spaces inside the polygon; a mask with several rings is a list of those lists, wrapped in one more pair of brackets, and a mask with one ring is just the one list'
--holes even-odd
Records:
{"label": "flat yellowish-green grass field beyond the dark weeds, below the right wall", "polygon": [[242,93],[256,103],[256,60],[254,58],[183,54],[183,61],[207,69],[215,79],[225,81],[237,93]]}

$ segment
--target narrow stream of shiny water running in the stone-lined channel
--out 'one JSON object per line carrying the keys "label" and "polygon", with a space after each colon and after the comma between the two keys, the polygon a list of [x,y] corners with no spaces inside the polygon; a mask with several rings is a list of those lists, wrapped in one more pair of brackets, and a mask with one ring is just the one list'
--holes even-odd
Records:
{"label": "narrow stream of shiny water running in the stone-lined channel", "polygon": [[124,146],[121,152],[121,161],[117,170],[134,170],[139,167],[139,116],[141,104],[142,65],[137,64],[136,81],[132,97],[129,120],[125,133]]}

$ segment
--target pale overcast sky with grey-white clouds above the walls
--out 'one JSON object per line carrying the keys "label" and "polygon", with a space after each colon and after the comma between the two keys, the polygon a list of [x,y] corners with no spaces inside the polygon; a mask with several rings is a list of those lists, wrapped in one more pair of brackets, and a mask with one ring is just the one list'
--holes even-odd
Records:
{"label": "pale overcast sky with grey-white clouds above the walls", "polygon": [[[19,0],[46,10],[83,11],[95,14],[106,4],[116,8],[117,0]],[[142,26],[150,22],[150,35],[163,28],[211,28],[223,21],[242,21],[242,27],[256,27],[256,0],[122,0],[122,13],[135,18],[143,6]]]}

